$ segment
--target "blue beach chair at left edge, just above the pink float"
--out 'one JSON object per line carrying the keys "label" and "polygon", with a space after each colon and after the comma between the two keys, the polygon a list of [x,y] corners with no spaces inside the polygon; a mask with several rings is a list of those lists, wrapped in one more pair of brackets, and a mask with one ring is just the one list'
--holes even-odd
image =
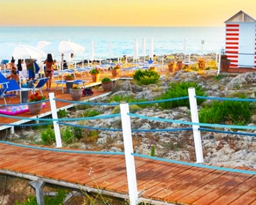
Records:
{"label": "blue beach chair at left edge, just above the pink float", "polygon": [[5,98],[15,97],[17,93],[10,93],[5,94],[5,92],[14,92],[20,90],[19,85],[17,84],[16,80],[8,80],[7,83],[1,84],[2,88],[0,89],[0,98],[3,98],[5,105],[7,105]]}

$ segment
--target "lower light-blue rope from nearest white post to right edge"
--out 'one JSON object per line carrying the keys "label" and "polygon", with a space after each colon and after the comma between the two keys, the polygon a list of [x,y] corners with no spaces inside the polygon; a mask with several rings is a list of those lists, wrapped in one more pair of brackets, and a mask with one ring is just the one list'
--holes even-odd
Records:
{"label": "lower light-blue rope from nearest white post to right edge", "polygon": [[253,174],[253,175],[256,175],[256,172],[249,171],[249,170],[231,169],[231,168],[226,168],[226,167],[217,167],[217,166],[211,166],[211,165],[204,165],[204,164],[200,164],[200,163],[176,161],[176,160],[173,160],[173,159],[163,159],[163,158],[159,158],[159,157],[151,157],[151,156],[148,156],[148,155],[140,155],[140,154],[137,154],[137,153],[131,153],[131,154],[136,156],[136,157],[142,157],[142,158],[146,158],[146,159],[155,159],[155,160],[158,160],[158,161],[177,163],[177,164],[188,165],[188,166],[192,166],[192,167],[200,167],[200,168],[205,168],[205,169],[215,169],[215,170],[220,170],[220,171],[224,171],[224,172],[236,172],[236,173],[239,173],[239,174]]}

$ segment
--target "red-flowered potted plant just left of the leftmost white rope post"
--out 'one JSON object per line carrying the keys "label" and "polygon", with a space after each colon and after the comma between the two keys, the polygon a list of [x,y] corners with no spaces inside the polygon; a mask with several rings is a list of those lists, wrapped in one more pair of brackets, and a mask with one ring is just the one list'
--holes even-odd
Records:
{"label": "red-flowered potted plant just left of the leftmost white rope post", "polygon": [[32,115],[38,115],[42,109],[42,100],[45,100],[45,96],[42,94],[39,94],[38,92],[32,94],[30,96],[30,99],[28,102],[31,102],[28,104],[28,109],[30,110],[30,114]]}

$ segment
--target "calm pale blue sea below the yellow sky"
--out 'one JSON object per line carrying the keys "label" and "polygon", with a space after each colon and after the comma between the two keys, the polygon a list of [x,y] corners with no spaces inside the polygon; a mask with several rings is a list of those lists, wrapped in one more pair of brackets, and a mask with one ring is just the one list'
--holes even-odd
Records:
{"label": "calm pale blue sea below the yellow sky", "polygon": [[85,47],[76,58],[89,58],[91,39],[94,42],[95,58],[109,58],[109,42],[112,40],[113,57],[133,55],[134,38],[138,41],[139,56],[142,56],[142,38],[146,40],[149,54],[151,38],[154,54],[163,55],[183,52],[187,38],[187,54],[218,52],[224,46],[224,27],[0,27],[0,42],[14,42],[36,46],[38,41],[58,42],[71,40]]}

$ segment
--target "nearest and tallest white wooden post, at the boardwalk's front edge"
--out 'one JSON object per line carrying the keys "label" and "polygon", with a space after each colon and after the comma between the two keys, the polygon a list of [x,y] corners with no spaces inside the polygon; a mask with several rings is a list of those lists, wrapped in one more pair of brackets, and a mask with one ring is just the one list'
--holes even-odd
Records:
{"label": "nearest and tallest white wooden post, at the boardwalk's front edge", "polygon": [[128,103],[126,102],[120,103],[120,112],[121,112],[122,130],[123,130],[123,137],[124,137],[124,153],[126,158],[126,174],[127,174],[127,181],[128,181],[129,200],[130,200],[130,204],[136,205],[138,202],[138,190],[137,190],[134,156],[132,155],[133,153],[132,129],[130,125],[130,116],[127,115],[127,113],[129,113]]}

